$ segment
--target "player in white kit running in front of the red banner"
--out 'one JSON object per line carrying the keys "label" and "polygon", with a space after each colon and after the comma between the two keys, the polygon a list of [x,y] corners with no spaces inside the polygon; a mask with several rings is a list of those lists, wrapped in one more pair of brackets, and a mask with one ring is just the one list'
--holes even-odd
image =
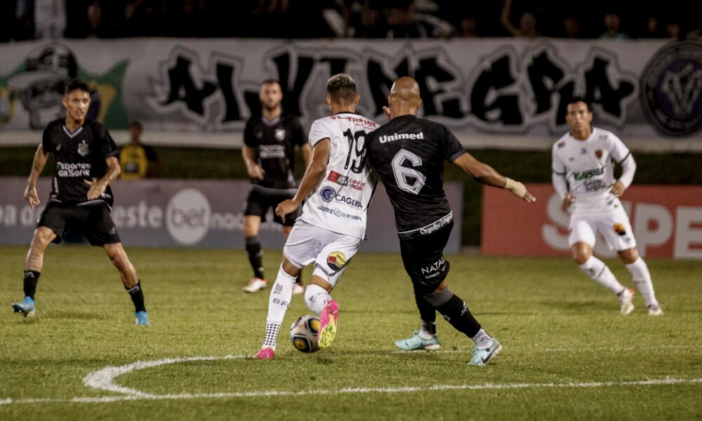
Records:
{"label": "player in white kit running in front of the red banner", "polygon": [[[569,245],[573,259],[593,281],[618,295],[621,314],[629,314],[634,309],[634,290],[622,286],[609,267],[592,255],[600,234],[623,260],[646,300],[649,314],[661,315],[649,268],[639,256],[629,217],[619,201],[634,178],[634,158],[614,133],[591,126],[592,109],[583,98],[569,102],[566,121],[571,131],[552,149],[552,182],[563,199],[563,210],[571,213]],[[618,180],[614,178],[615,162],[622,167]]]}

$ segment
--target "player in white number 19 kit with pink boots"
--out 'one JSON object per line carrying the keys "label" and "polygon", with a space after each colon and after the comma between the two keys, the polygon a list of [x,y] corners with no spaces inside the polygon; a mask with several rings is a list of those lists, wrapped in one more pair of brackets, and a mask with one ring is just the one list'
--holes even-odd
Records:
{"label": "player in white number 19 kit with pink boots", "polygon": [[319,314],[319,347],[336,336],[338,304],[329,293],[336,286],[366,233],[368,210],[376,177],[366,163],[366,133],[378,124],[355,114],[359,95],[347,74],[326,82],[331,116],[312,123],[312,161],[293,197],[275,212],[284,220],[305,199],[303,213],[283,248],[283,262],[270,291],[263,347],[256,359],[272,359],[280,325],[292,297],[293,283],[303,267],[314,262],[305,288],[307,307]]}

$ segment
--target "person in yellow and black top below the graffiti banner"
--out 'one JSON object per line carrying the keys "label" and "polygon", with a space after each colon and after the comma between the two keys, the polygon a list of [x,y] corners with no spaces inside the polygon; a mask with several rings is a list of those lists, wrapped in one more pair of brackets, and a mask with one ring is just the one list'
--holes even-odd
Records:
{"label": "person in yellow and black top below the graffiti banner", "polygon": [[119,148],[119,166],[122,168],[120,178],[139,180],[140,178],[159,177],[161,162],[154,148],[141,142],[144,128],[140,121],[129,123],[129,143]]}

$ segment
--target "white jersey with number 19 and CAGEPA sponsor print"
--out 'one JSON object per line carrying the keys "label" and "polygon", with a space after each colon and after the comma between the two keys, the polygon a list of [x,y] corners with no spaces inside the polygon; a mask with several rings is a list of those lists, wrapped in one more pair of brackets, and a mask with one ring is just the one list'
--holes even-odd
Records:
{"label": "white jersey with number 19 and CAGEPA sponsor print", "polygon": [[378,124],[358,114],[343,112],[312,123],[310,145],[329,139],[329,163],[322,182],[305,199],[300,220],[362,239],[366,210],[377,178],[366,160],[366,134]]}

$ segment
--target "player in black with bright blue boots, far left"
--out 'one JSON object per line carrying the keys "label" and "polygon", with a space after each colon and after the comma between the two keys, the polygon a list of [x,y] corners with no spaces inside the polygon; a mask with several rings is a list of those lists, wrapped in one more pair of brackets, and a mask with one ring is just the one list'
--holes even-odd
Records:
{"label": "player in black with bright blue boots, far left", "polygon": [[65,91],[65,119],[48,123],[32,163],[25,199],[29,206],[41,203],[37,195],[37,178],[44,169],[48,154],[53,154],[51,194],[41,213],[25,266],[25,299],[12,308],[25,316],[34,315],[34,293],[44,266],[44,251],[52,241],[59,243],[71,229],[80,229],[93,246],[101,246],[114,267],[135,307],[136,324],[148,325],[136,270],[122,248],[119,234],[110,217],[112,189],[110,182],[119,175],[117,146],[107,128],[86,119],[90,105],[90,88],[84,81],[71,81]]}

